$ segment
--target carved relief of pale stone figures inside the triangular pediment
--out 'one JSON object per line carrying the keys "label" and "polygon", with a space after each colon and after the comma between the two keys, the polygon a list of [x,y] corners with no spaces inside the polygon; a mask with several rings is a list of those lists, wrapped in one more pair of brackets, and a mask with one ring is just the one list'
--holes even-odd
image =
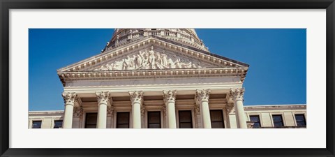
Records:
{"label": "carved relief of pale stone figures inside the triangular pediment", "polygon": [[168,54],[154,51],[151,46],[149,50],[140,51],[132,57],[119,59],[113,63],[107,63],[94,70],[140,70],[140,69],[165,69],[165,68],[202,68],[200,61],[192,61],[176,54]]}

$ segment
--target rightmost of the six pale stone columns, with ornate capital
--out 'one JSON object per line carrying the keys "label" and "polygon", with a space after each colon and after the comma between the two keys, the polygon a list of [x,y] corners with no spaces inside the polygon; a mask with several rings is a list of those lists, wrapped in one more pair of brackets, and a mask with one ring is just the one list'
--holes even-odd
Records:
{"label": "rightmost of the six pale stone columns, with ornate capital", "polygon": [[243,107],[243,94],[244,89],[230,89],[230,97],[234,100],[237,128],[247,128]]}

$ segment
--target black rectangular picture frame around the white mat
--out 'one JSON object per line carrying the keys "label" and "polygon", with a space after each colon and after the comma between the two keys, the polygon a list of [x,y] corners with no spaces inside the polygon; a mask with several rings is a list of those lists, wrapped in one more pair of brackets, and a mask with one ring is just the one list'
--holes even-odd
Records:
{"label": "black rectangular picture frame around the white mat", "polygon": [[[334,156],[334,0],[0,0],[1,156]],[[325,149],[13,149],[9,146],[10,9],[326,9],[327,148]],[[318,135],[315,135],[318,136]],[[306,137],[308,138],[308,137]]]}

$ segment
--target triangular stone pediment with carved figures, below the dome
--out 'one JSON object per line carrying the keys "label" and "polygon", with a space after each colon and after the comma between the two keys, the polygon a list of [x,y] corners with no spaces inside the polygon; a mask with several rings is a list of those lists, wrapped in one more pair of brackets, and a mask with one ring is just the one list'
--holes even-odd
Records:
{"label": "triangular stone pediment with carved figures, below the dome", "polygon": [[173,41],[146,38],[60,68],[58,73],[96,70],[159,70],[177,68],[246,68],[246,63],[192,50]]}

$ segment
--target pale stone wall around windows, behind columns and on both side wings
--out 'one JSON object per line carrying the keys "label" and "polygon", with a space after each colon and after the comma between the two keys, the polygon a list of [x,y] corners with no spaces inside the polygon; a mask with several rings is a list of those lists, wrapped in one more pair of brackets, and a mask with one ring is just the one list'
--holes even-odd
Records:
{"label": "pale stone wall around windows, behind columns and on both side wings", "polygon": [[[230,112],[230,114],[225,113],[225,109],[223,107],[218,107],[218,105],[210,105],[210,110],[223,110],[223,117],[225,128],[237,128],[237,120],[234,114],[234,110]],[[200,114],[195,114],[195,111],[191,109],[191,106],[176,106],[176,114],[178,110],[188,110],[192,111],[193,115],[193,128],[201,128],[202,121],[200,118]],[[158,110],[159,107],[149,107],[149,110]],[[107,128],[115,128],[116,126],[116,112],[131,112],[131,107],[127,107],[126,109],[116,108],[114,110],[114,114],[112,116],[107,117]],[[258,115],[260,117],[260,123],[262,127],[274,127],[274,122],[272,120],[273,114],[281,114],[283,117],[284,126],[297,126],[297,122],[295,121],[295,114],[304,114],[305,119],[307,121],[306,114],[306,105],[252,105],[252,106],[244,106],[246,121],[250,121],[251,115]],[[97,112],[96,109],[91,108],[89,110],[85,110],[82,118],[73,118],[73,128],[84,128],[84,119],[86,112]],[[29,128],[32,126],[32,121],[42,121],[41,128],[53,128],[55,120],[62,120],[64,111],[43,111],[43,112],[29,112]],[[131,115],[131,114],[130,114]],[[163,128],[167,128],[167,118],[163,117],[163,111],[161,111],[161,126]],[[143,117],[142,128],[147,128],[147,112],[145,117]],[[132,124],[132,120],[130,119],[130,124]],[[178,123],[178,114],[177,114],[177,126]],[[177,127],[178,128],[178,127]]]}

